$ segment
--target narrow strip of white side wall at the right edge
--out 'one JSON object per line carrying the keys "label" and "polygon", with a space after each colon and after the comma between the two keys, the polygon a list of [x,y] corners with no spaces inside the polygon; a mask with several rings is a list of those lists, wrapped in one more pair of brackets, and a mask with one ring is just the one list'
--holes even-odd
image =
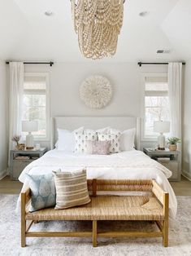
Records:
{"label": "narrow strip of white side wall at the right edge", "polygon": [[185,65],[183,104],[183,174],[191,179],[191,60]]}

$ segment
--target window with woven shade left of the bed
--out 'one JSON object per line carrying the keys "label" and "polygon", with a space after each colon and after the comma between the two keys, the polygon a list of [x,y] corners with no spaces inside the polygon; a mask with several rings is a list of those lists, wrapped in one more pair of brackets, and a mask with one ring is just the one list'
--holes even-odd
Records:
{"label": "window with woven shade left of the bed", "polygon": [[33,132],[35,139],[49,139],[50,112],[47,73],[24,74],[23,120],[38,121],[38,131]]}

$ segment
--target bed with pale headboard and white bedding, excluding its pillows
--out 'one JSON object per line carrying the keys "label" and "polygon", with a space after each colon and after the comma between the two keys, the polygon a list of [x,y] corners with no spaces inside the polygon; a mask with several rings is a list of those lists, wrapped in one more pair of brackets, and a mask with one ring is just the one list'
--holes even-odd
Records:
{"label": "bed with pale headboard and white bedding, excluding its pillows", "polygon": [[[140,147],[140,123],[135,117],[54,117],[51,129],[51,148],[54,148],[54,143],[58,139],[56,133],[58,127],[75,130],[79,126],[85,126],[89,129],[112,126],[119,130],[137,127],[135,146],[136,148]],[[28,187],[28,180],[25,178],[26,173],[47,174],[52,170],[79,170],[84,167],[87,170],[87,179],[155,179],[169,193],[169,214],[171,218],[176,217],[176,196],[167,180],[171,176],[171,171],[137,149],[103,156],[63,152],[54,148],[37,161],[29,164],[20,174],[19,180],[24,183],[24,190]],[[125,192],[99,193],[125,195]]]}

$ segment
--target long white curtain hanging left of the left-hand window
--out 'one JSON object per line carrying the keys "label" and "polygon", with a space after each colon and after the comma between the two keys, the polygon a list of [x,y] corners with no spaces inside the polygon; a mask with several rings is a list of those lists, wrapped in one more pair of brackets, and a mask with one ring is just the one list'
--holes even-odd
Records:
{"label": "long white curtain hanging left of the left-hand window", "polygon": [[10,62],[9,87],[9,149],[13,148],[12,137],[21,135],[21,120],[24,90],[24,64]]}

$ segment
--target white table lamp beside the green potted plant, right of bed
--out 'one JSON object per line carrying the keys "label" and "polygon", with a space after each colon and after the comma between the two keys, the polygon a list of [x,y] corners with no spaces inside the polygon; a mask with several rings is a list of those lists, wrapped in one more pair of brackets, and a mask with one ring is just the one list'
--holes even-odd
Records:
{"label": "white table lamp beside the green potted plant, right of bed", "polygon": [[154,121],[154,131],[160,133],[158,136],[158,149],[165,150],[165,136],[163,133],[170,131],[170,121]]}

